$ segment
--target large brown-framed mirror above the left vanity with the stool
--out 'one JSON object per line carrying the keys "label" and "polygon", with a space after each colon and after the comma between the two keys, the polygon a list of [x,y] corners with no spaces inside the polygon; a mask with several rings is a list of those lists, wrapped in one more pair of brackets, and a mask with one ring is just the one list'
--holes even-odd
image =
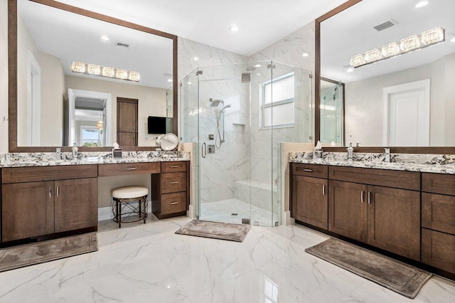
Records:
{"label": "large brown-framed mirror above the left vanity with the stool", "polygon": [[149,116],[177,133],[176,39],[57,1],[9,0],[10,151],[109,150],[121,132],[136,141],[124,149],[153,149]]}

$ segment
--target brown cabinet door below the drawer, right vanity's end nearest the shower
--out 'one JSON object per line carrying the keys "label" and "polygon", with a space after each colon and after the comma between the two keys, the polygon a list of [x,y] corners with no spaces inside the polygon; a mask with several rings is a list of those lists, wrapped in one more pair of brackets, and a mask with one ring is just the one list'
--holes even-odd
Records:
{"label": "brown cabinet door below the drawer, right vanity's end nearest the shower", "polygon": [[327,229],[327,179],[292,176],[292,216],[304,223]]}

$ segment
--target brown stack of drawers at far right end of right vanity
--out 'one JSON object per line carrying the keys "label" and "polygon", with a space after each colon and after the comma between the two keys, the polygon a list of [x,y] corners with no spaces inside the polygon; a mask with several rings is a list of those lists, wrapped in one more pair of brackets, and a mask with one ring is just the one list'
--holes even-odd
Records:
{"label": "brown stack of drawers at far right end of right vanity", "polygon": [[422,262],[455,274],[455,175],[422,174]]}

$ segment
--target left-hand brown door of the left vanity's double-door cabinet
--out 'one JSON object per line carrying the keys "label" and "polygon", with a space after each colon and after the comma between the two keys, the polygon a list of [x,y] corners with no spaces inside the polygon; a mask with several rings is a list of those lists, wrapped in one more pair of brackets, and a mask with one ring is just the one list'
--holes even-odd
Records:
{"label": "left-hand brown door of the left vanity's double-door cabinet", "polygon": [[4,184],[1,224],[2,242],[53,233],[53,181]]}

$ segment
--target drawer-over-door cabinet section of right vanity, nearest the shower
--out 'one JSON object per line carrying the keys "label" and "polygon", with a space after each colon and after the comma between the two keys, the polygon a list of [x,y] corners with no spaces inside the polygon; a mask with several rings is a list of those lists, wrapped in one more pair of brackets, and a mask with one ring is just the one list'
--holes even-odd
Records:
{"label": "drawer-over-door cabinet section of right vanity, nearest the shower", "polygon": [[327,230],[328,166],[294,163],[291,171],[291,216]]}

